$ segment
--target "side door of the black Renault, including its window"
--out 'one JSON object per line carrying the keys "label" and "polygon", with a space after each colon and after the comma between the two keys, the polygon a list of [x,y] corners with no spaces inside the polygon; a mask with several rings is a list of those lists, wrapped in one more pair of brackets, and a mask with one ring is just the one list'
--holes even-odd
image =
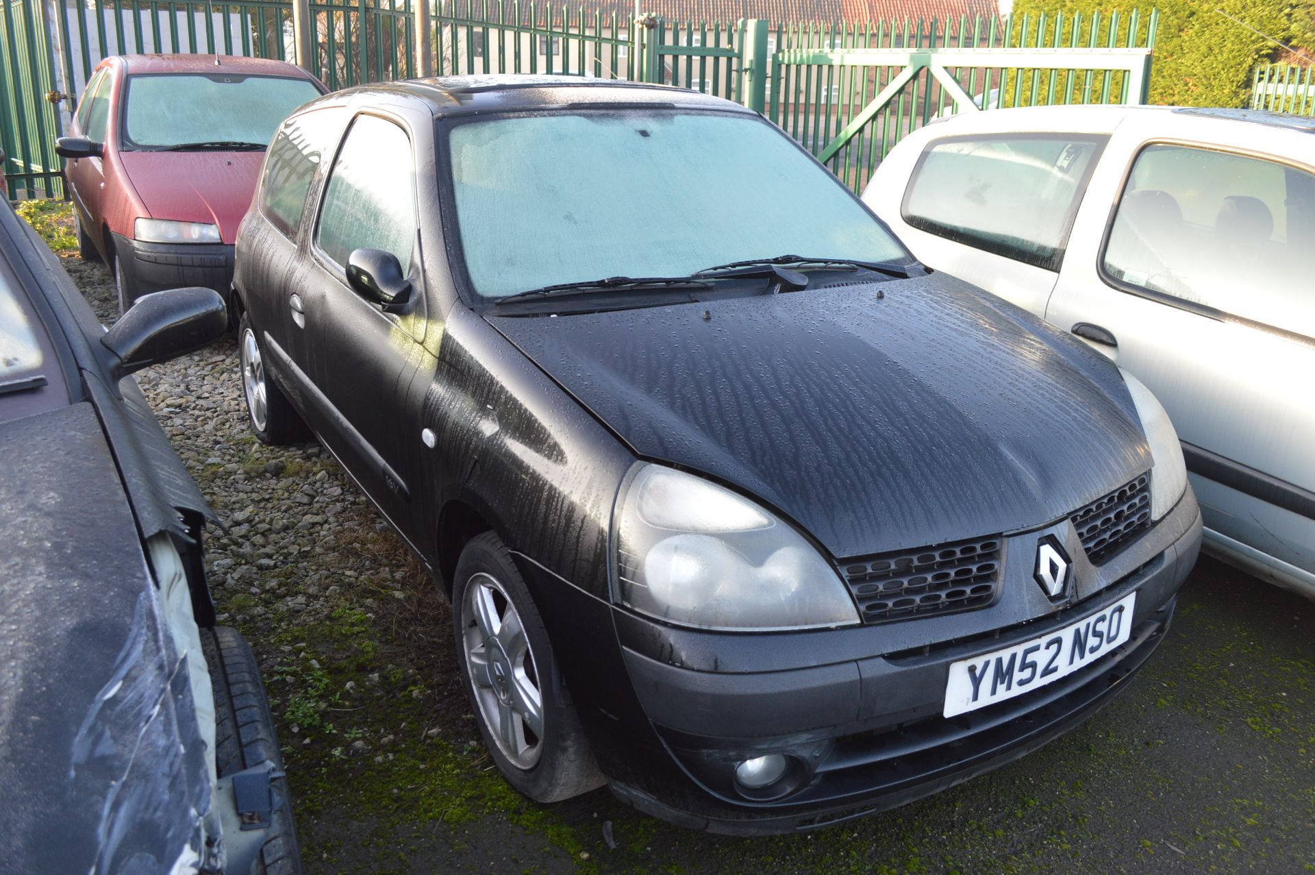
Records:
{"label": "side door of the black Renault, including its window", "polygon": [[[306,286],[310,366],[327,420],[322,437],[393,525],[413,533],[418,466],[417,364],[425,330],[421,233],[413,137],[400,117],[358,114],[320,199]],[[401,312],[384,309],[347,283],[356,249],[397,257],[413,292]]]}

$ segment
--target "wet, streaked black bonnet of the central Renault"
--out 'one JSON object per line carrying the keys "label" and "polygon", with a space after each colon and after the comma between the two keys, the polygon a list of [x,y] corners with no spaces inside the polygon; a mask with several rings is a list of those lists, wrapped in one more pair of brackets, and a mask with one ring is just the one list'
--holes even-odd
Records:
{"label": "wet, streaked black bonnet of the central Renault", "polygon": [[1035,528],[1151,467],[1107,359],[948,276],[490,321],[640,457],[834,557]]}

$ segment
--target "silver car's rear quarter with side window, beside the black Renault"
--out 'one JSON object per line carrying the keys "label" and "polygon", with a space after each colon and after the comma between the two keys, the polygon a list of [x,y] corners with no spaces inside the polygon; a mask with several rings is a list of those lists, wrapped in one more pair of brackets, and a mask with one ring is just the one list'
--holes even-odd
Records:
{"label": "silver car's rear quarter with side window, beside the black Renault", "polygon": [[864,200],[924,264],[1038,316],[1103,134],[969,133],[884,162]]}

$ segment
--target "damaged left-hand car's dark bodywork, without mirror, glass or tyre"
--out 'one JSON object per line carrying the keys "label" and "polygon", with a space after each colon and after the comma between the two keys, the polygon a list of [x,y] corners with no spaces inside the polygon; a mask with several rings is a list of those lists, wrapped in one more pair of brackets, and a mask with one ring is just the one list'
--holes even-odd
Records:
{"label": "damaged left-hand car's dark bodywork, without mirror, glass or tyre", "polygon": [[8,205],[0,259],[67,389],[0,422],[0,871],[171,871],[201,847],[210,780],[143,542],[171,538],[212,621],[213,512],[135,382],[110,383],[104,329]]}

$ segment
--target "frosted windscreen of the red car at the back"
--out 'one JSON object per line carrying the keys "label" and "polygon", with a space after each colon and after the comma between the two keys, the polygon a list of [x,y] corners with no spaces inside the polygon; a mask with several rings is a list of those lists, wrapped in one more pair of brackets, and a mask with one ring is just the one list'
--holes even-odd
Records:
{"label": "frosted windscreen of the red car at the back", "polygon": [[147,149],[206,142],[266,145],[292,111],[318,96],[306,79],[284,76],[129,76],[124,143]]}

